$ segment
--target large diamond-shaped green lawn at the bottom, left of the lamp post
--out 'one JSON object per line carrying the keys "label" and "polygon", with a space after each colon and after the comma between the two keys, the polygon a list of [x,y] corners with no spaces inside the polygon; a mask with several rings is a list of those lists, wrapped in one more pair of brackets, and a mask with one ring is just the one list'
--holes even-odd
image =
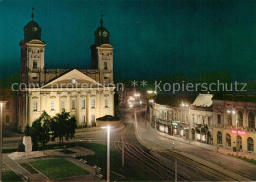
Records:
{"label": "large diamond-shaped green lawn at the bottom, left of the lamp post", "polygon": [[30,163],[33,167],[41,171],[52,180],[89,173],[88,171],[67,161],[64,158],[37,160]]}

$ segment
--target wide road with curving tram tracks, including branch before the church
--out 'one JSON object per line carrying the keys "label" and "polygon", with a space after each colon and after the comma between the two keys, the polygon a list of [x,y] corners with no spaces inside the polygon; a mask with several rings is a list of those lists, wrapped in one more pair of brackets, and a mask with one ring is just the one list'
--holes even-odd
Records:
{"label": "wide road with curving tram tracks, including branch before the church", "polygon": [[[149,130],[149,123],[143,111],[136,114],[137,122],[134,119],[134,110],[122,109],[121,114],[125,128],[111,132],[111,148],[122,152],[124,146],[125,163],[136,167],[140,173],[148,176],[152,181],[173,181],[175,159],[178,161],[178,181],[237,180],[178,152],[200,157],[203,161],[216,166],[224,164],[228,170],[256,180],[255,165],[217,152],[203,150],[194,145],[166,139],[155,131]],[[73,141],[80,140],[106,143],[106,131],[81,133],[76,135]]]}

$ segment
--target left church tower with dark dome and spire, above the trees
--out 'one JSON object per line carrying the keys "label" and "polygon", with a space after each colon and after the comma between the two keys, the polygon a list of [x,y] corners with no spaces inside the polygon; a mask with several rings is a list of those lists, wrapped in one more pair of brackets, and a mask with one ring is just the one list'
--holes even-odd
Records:
{"label": "left church tower with dark dome and spire, above the trees", "polygon": [[22,83],[43,84],[44,52],[46,44],[41,41],[41,27],[33,20],[24,27],[24,39],[21,46],[21,77]]}

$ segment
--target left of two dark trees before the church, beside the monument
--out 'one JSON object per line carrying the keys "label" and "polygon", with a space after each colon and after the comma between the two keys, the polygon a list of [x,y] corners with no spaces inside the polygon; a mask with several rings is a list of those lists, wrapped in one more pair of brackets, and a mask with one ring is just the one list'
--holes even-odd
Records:
{"label": "left of two dark trees before the church, beside the monument", "polygon": [[33,149],[37,149],[38,143],[45,147],[46,143],[50,141],[50,123],[51,117],[45,111],[32,123],[30,133]]}

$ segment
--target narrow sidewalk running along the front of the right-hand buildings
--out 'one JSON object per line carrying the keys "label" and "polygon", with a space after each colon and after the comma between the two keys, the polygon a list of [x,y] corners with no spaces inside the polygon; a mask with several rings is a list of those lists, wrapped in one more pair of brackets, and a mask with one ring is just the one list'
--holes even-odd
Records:
{"label": "narrow sidewalk running along the front of the right-hand buildings", "polygon": [[[180,142],[183,142],[183,143],[187,143],[189,145],[195,145],[195,146],[197,146],[199,148],[204,148],[204,149],[210,150],[212,152],[217,152],[216,146],[213,146],[213,145],[210,145],[210,144],[201,143],[201,142],[197,142],[197,141],[190,141],[190,143],[189,143],[189,141],[187,139],[171,136],[171,135],[162,133],[162,132],[160,132],[158,130],[155,130],[154,128],[152,128],[150,126],[150,124],[148,122],[147,122],[147,128],[150,129],[151,131],[156,132],[158,135],[160,135],[162,137],[169,138],[169,139],[176,140],[176,141],[180,141]],[[221,153],[221,154],[224,154],[224,155],[228,155],[228,154],[236,155],[236,152],[233,152],[232,150],[221,148],[221,147],[218,149],[218,153]],[[254,154],[254,153],[238,152],[238,155],[242,156],[242,157],[245,156],[248,159],[256,160],[256,154]]]}

